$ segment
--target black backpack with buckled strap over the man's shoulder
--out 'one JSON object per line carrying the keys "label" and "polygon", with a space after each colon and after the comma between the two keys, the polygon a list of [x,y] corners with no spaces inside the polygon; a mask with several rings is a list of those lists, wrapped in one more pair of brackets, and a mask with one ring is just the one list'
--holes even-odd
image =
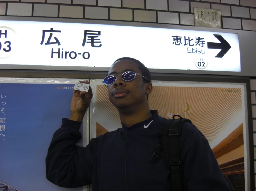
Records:
{"label": "black backpack with buckled strap over the man's shoulder", "polygon": [[[179,117],[175,119],[174,117]],[[174,115],[173,119],[168,119],[164,128],[158,132],[159,142],[155,152],[150,158],[150,163],[155,165],[164,151],[167,168],[171,170],[171,183],[173,191],[183,191],[182,169],[180,168],[180,135],[182,125],[185,122],[192,123],[189,119]],[[223,174],[231,191],[235,191],[231,181]]]}

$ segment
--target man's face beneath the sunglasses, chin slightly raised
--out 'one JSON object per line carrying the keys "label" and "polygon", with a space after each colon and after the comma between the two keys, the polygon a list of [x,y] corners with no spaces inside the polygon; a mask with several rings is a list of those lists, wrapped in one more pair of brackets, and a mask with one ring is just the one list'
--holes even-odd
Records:
{"label": "man's face beneath the sunglasses, chin slightly raised", "polygon": [[133,80],[124,81],[121,75],[126,71],[141,74],[137,64],[131,60],[115,62],[108,72],[108,75],[120,76],[113,84],[108,85],[109,100],[117,108],[138,106],[147,102],[147,83],[143,82],[143,77],[136,75]]}

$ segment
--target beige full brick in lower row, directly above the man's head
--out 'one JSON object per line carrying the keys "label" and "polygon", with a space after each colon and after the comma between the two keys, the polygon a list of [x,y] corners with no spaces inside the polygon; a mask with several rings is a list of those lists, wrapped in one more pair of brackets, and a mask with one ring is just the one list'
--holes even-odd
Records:
{"label": "beige full brick in lower row, directly above the man's head", "polygon": [[110,9],[111,20],[124,20],[132,21],[132,10],[131,9]]}

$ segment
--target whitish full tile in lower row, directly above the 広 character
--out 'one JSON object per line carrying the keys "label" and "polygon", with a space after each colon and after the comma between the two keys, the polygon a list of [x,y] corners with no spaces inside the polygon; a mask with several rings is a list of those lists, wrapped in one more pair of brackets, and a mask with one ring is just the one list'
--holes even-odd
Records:
{"label": "whitish full tile in lower row, directly above the \u5e83 character", "polygon": [[58,17],[58,5],[34,4],[33,15],[38,17]]}

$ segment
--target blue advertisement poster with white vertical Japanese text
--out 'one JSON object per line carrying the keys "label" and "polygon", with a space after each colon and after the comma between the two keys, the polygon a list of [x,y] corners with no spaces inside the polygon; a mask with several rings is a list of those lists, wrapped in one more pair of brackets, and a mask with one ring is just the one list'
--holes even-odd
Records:
{"label": "blue advertisement poster with white vertical Japanese text", "polygon": [[[70,117],[79,79],[0,78],[0,188],[15,191],[83,191],[46,179],[45,158],[62,118]],[[87,144],[87,116],[77,145]],[[0,189],[1,190],[1,189]]]}

